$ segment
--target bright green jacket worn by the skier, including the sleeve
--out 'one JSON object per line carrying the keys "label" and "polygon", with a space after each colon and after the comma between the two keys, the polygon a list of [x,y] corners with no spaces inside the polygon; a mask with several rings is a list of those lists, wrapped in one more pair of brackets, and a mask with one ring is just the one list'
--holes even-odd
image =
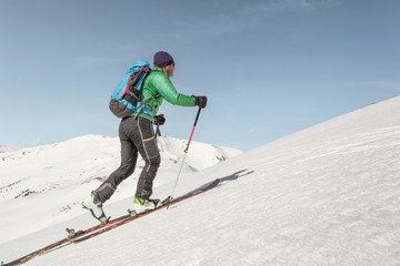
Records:
{"label": "bright green jacket worn by the skier, including the sleeve", "polygon": [[194,106],[196,102],[193,96],[177,92],[166,72],[156,66],[146,78],[141,92],[141,101],[146,102],[146,104],[151,108],[152,116],[144,113],[140,113],[139,116],[153,122],[153,116],[157,115],[163,99],[169,103],[180,106]]}

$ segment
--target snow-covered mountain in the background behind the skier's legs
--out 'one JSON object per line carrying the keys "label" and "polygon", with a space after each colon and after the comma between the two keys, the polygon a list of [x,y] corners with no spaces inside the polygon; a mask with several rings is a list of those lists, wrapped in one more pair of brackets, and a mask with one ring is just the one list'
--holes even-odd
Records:
{"label": "snow-covered mountain in the background behind the skier's legs", "polygon": [[[176,178],[186,141],[158,137],[162,163],[158,186]],[[67,142],[0,155],[0,244],[82,214],[81,202],[120,164],[119,139],[86,135]],[[183,174],[209,167],[241,152],[193,142]],[[132,196],[144,162],[110,203]],[[0,258],[1,259],[1,258]]]}

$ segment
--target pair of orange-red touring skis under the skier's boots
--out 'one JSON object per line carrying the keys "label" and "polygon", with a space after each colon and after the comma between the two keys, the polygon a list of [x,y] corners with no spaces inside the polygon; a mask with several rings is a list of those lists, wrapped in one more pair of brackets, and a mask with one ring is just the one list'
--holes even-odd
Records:
{"label": "pair of orange-red touring skis under the skier's boots", "polygon": [[67,246],[69,244],[78,244],[78,243],[81,243],[81,242],[84,242],[87,239],[90,239],[94,236],[98,236],[100,234],[103,234],[106,232],[109,232],[113,228],[117,228],[121,225],[124,225],[124,224],[128,224],[132,221],[136,221],[140,217],[143,217],[143,216],[147,216],[153,212],[157,212],[157,211],[160,211],[162,208],[167,208],[173,204],[177,204],[179,202],[182,202],[187,198],[190,198],[190,197],[193,197],[196,195],[199,195],[203,192],[207,192],[207,191],[210,191],[211,188],[213,187],[217,187],[220,183],[220,180],[217,178],[194,191],[191,191],[187,194],[184,194],[183,196],[180,196],[180,197],[177,197],[177,198],[166,198],[163,202],[162,202],[162,205],[158,208],[154,208],[154,209],[151,209],[151,211],[148,211],[148,212],[144,212],[144,213],[141,213],[141,214],[138,214],[138,215],[134,215],[132,213],[128,213],[126,215],[122,215],[120,217],[117,217],[114,219],[111,219],[109,221],[107,224],[100,224],[100,225],[96,225],[96,226],[92,226],[88,229],[83,229],[83,231],[74,231],[73,228],[67,228],[67,233],[68,233],[68,236],[61,241],[58,241],[58,242],[54,242],[43,248],[40,248],[33,253],[30,253],[23,257],[20,257],[11,263],[8,263],[8,264],[3,264],[4,266],[16,266],[16,265],[21,265],[37,256],[40,256],[40,255],[43,255],[46,253],[49,253],[51,250],[56,250],[58,248],[61,248],[63,246]]}

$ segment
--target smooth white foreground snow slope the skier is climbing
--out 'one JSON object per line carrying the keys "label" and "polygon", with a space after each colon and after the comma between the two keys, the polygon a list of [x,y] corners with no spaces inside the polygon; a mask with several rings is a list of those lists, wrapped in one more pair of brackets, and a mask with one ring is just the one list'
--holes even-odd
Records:
{"label": "smooth white foreground snow slope the skier is climbing", "polygon": [[[398,266],[399,155],[400,98],[394,98],[184,175],[177,195],[217,177],[222,182],[28,265]],[[76,168],[72,158],[66,163]],[[160,184],[154,194],[170,187]],[[121,214],[128,203],[116,201],[107,211]],[[16,221],[9,229],[24,223]],[[0,259],[59,239],[67,226],[92,223],[86,214],[0,245]]]}

